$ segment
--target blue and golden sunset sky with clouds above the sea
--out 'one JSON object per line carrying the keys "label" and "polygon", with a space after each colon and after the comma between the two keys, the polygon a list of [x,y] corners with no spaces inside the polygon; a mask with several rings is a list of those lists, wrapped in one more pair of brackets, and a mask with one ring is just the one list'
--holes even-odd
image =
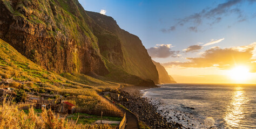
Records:
{"label": "blue and golden sunset sky with clouds above the sea", "polygon": [[178,83],[256,83],[255,0],[79,2],[137,35]]}

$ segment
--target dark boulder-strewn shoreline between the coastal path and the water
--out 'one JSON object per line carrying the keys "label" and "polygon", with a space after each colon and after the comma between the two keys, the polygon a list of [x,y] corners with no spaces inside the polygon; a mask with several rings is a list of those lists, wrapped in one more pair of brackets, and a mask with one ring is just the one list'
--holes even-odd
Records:
{"label": "dark boulder-strewn shoreline between the coastal path and the water", "polygon": [[[157,88],[157,87],[152,87]],[[158,113],[158,105],[150,103],[151,100],[142,97],[140,90],[148,89],[148,87],[125,87],[121,89],[120,95],[127,98],[127,102],[120,102],[127,109],[138,116],[140,121],[143,121],[151,128],[184,128],[181,124],[175,121],[168,120]]]}

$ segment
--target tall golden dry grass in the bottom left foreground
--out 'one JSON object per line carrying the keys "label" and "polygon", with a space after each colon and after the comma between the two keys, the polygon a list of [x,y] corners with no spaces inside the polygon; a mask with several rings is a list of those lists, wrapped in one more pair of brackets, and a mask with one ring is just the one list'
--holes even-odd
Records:
{"label": "tall golden dry grass in the bottom left foreground", "polygon": [[[39,114],[39,115],[38,115]],[[42,113],[35,113],[33,108],[26,114],[17,107],[10,106],[10,100],[4,101],[0,105],[0,129],[3,128],[116,128],[111,125],[82,125],[76,124],[77,120],[69,121],[65,117],[59,117],[51,110],[42,109]]]}

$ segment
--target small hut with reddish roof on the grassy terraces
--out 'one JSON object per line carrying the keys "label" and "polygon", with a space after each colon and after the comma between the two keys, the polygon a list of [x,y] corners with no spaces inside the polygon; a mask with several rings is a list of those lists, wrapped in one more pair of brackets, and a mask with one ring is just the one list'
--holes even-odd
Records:
{"label": "small hut with reddish roof on the grassy terraces", "polygon": [[69,113],[72,114],[75,112],[75,105],[71,104],[69,102],[63,102],[60,103],[57,108],[56,111],[59,113]]}

